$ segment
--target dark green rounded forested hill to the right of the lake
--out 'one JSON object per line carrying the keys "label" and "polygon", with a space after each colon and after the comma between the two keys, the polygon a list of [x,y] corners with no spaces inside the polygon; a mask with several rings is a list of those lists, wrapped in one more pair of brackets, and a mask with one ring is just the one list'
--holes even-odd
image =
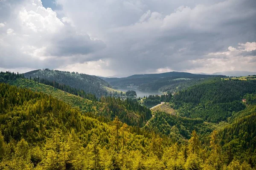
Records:
{"label": "dark green rounded forested hill to the right of the lake", "polygon": [[256,93],[255,80],[215,78],[178,92],[173,103],[181,116],[220,122],[227,120],[233,112],[243,110],[243,96],[253,93]]}

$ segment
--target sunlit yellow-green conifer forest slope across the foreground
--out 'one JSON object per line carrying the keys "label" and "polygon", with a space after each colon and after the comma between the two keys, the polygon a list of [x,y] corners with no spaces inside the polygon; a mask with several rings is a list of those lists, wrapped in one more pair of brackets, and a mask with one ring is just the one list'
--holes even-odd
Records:
{"label": "sunlit yellow-green conifer forest slope across the foreground", "polygon": [[52,96],[0,83],[0,169],[252,170],[255,117],[244,114],[246,123],[239,119],[224,133],[213,130],[205,144],[195,130],[177,143],[178,127],[201,120],[166,119],[177,127],[161,136],[118,118],[106,124]]}

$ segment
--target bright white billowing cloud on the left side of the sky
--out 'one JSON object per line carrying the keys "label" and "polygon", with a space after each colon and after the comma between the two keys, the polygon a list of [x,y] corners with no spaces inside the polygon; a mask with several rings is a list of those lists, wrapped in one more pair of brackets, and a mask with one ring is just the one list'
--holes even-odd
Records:
{"label": "bright white billowing cloud on the left side of the sky", "polygon": [[0,3],[5,11],[12,11],[1,18],[6,28],[0,30],[2,68],[56,68],[84,61],[87,55],[105,48],[104,42],[61,22],[55,11],[42,6],[41,0]]}

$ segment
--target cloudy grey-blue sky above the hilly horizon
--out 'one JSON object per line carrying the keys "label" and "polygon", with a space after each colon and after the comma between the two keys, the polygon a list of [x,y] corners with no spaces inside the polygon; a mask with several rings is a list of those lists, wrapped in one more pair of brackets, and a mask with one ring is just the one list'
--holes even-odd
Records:
{"label": "cloudy grey-blue sky above the hilly horizon", "polygon": [[256,71],[255,0],[0,0],[0,71]]}

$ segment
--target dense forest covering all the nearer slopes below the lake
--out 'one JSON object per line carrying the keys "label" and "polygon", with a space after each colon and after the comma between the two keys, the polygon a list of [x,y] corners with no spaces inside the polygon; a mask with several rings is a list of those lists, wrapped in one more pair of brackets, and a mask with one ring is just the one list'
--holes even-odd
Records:
{"label": "dense forest covering all the nearer slopes below the lake", "polygon": [[[0,74],[0,169],[256,166],[253,80],[204,79],[174,96],[98,100],[81,89],[40,79]],[[176,114],[141,105],[155,100],[169,103]]]}

